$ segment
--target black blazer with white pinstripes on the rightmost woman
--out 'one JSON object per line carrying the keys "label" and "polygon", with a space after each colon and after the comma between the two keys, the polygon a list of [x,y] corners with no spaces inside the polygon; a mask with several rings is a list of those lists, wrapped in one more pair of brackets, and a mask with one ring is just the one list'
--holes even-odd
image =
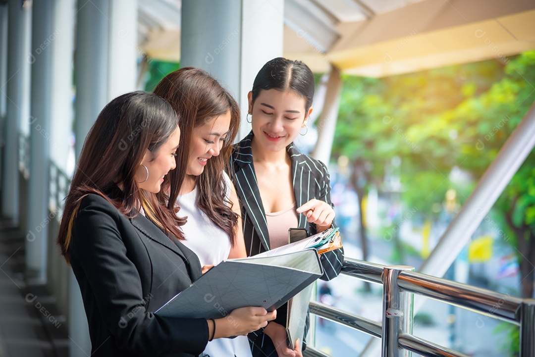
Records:
{"label": "black blazer with white pinstripes on the rightmost woman", "polygon": [[[268,223],[264,206],[258,190],[251,141],[253,131],[234,146],[232,153],[233,181],[240,198],[243,237],[247,255],[256,255],[270,249]],[[286,150],[292,160],[292,184],[297,207],[315,198],[333,206],[331,201],[330,178],[325,165],[300,153],[294,144]],[[297,228],[305,228],[309,234],[316,233],[315,224],[307,222],[304,214],[298,214]],[[333,223],[334,224],[334,223]],[[324,275],[322,280],[331,280],[340,274],[343,263],[343,250],[337,249],[320,255]]]}

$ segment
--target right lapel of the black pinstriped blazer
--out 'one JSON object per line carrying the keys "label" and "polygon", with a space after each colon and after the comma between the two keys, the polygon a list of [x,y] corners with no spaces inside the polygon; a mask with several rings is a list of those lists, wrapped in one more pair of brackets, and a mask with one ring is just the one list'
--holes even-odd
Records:
{"label": "right lapel of the black pinstriped blazer", "polygon": [[[288,145],[287,151],[290,160],[292,160],[292,185],[294,187],[295,204],[297,207],[301,207],[310,200],[310,188],[308,187],[310,170],[306,165],[303,165],[304,161],[301,160],[303,154],[295,149],[293,143]],[[308,222],[304,214],[298,214],[297,219],[298,228],[307,228]]]}

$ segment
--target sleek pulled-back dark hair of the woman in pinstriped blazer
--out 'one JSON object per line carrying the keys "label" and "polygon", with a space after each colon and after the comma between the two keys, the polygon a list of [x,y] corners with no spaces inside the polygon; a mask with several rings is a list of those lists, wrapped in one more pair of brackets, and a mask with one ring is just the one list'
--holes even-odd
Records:
{"label": "sleek pulled-back dark hair of the woman in pinstriped blazer", "polygon": [[253,82],[253,103],[262,90],[292,89],[306,99],[305,117],[314,98],[314,74],[302,61],[277,57],[268,61]]}

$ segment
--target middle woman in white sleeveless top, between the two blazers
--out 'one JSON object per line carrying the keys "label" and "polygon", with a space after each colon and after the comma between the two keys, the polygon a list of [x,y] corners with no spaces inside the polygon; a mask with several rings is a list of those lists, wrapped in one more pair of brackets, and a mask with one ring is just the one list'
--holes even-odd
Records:
{"label": "middle woman in white sleeveless top, between the two blazers", "polygon": [[[165,176],[162,201],[175,209],[186,240],[203,273],[227,258],[246,257],[240,205],[224,173],[238,133],[238,103],[202,69],[186,67],[164,77],[154,93],[179,114],[177,167]],[[169,179],[167,179],[169,177]],[[247,336],[217,339],[204,350],[210,357],[250,357]]]}

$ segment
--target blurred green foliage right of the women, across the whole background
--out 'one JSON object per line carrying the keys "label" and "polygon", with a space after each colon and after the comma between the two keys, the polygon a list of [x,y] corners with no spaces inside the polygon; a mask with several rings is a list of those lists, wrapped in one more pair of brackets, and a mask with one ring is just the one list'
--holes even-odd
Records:
{"label": "blurred green foliage right of the women, across the whole background", "polygon": [[[534,99],[535,51],[505,63],[488,60],[383,79],[344,76],[333,158],[345,155],[364,167],[359,182],[365,190],[373,185],[384,193],[401,191],[406,211],[416,207],[422,218],[444,219],[446,191],[454,189],[458,204],[464,203]],[[392,187],[393,175],[401,188]],[[535,152],[493,211],[488,220],[516,248],[522,295],[531,297]]]}

